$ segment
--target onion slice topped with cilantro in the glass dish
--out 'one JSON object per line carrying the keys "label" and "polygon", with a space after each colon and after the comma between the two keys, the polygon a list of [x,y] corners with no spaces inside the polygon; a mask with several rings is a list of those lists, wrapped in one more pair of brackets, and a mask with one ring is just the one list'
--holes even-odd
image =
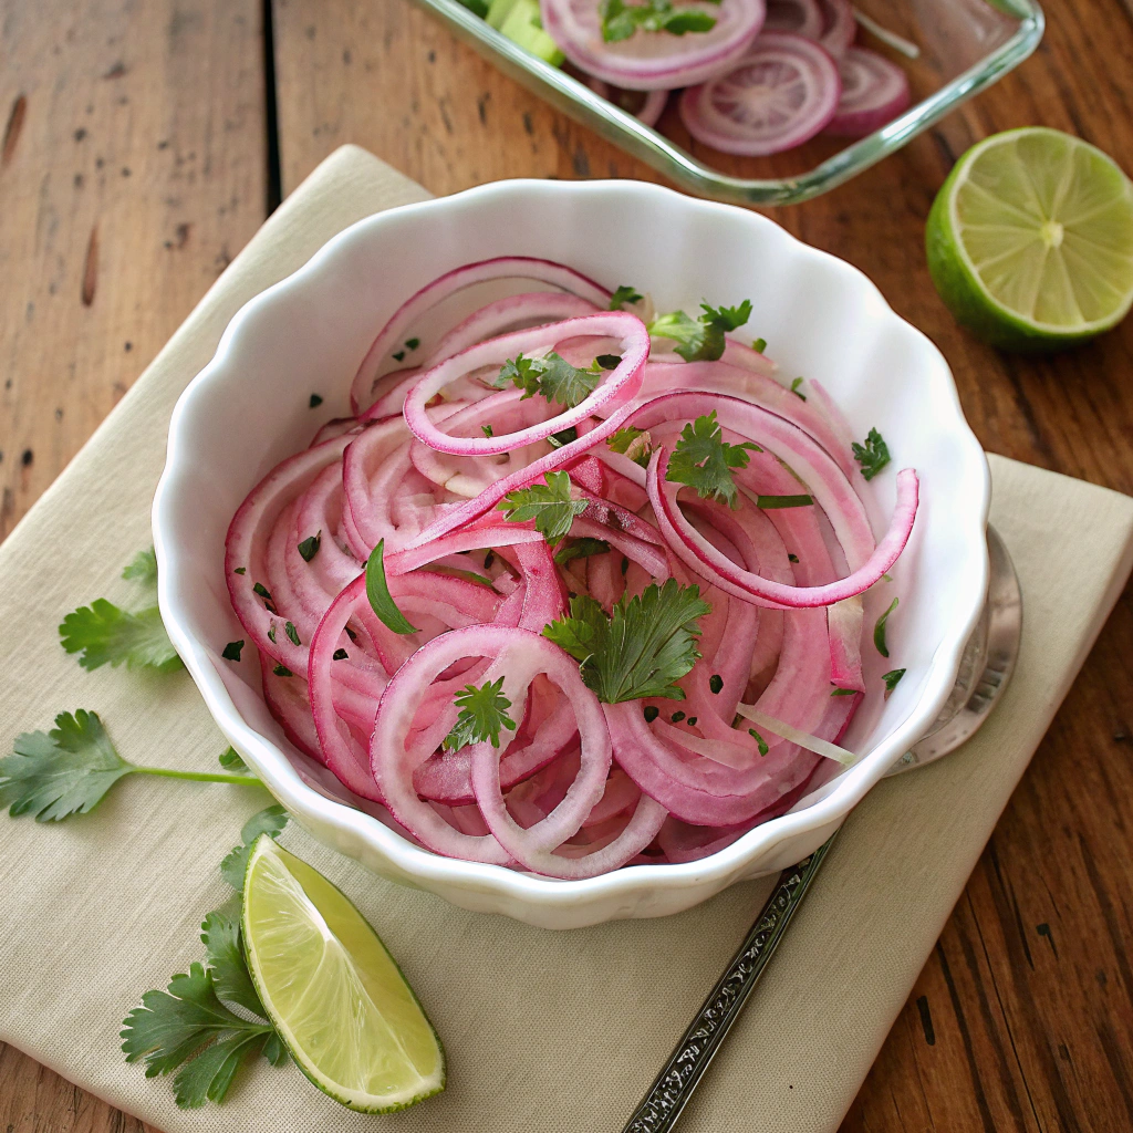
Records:
{"label": "onion slice topped with cilantro in the glass dish", "polygon": [[542,0],[543,26],[566,58],[595,78],[630,91],[672,91],[702,83],[738,59],[763,27],[764,0],[682,6],[712,16],[709,32],[636,32],[620,43],[602,36],[596,0]]}

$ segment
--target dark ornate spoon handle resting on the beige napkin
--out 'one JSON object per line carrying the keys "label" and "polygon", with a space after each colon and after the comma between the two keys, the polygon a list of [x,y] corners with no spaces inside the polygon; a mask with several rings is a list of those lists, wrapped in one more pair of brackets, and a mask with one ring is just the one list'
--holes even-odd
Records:
{"label": "dark ornate spoon handle resting on the beige napkin", "polygon": [[767,898],[743,944],[708,993],[708,998],[622,1133],[670,1133],[676,1125],[692,1091],[700,1084],[708,1064],[723,1046],[767,961],[783,939],[835,836],[836,832],[809,858],[780,875],[774,893]]}

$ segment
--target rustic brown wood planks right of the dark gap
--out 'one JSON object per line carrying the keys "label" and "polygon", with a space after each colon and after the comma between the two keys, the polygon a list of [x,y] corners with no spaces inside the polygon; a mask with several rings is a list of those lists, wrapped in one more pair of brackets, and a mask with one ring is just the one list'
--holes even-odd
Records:
{"label": "rustic brown wood planks right of the dark gap", "polygon": [[[895,9],[896,10],[896,9]],[[504,78],[408,0],[274,0],[282,177],[356,142],[434,193],[497,177],[661,180]],[[1133,321],[1050,359],[1012,358],[953,322],[923,224],[955,157],[1042,122],[1133,153],[1133,17],[1048,6],[1036,57],[843,188],[765,210],[861,267],[936,341],[983,444],[1133,492]],[[844,1133],[1133,1127],[1133,672],[1126,594],[926,964]],[[1055,949],[1057,948],[1057,955]]]}

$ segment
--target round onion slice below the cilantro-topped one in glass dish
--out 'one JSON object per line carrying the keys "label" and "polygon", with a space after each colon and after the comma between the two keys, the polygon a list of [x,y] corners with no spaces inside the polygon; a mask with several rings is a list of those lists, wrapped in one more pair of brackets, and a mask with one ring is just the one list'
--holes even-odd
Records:
{"label": "round onion slice below the cilantro-topped one in glass dish", "polygon": [[725,74],[689,87],[681,120],[705,145],[761,157],[809,140],[842,96],[837,63],[801,35],[768,32]]}

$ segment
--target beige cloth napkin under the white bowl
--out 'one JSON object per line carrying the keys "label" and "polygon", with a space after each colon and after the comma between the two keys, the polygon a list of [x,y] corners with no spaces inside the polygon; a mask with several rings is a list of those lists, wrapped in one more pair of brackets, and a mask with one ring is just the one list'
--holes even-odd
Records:
{"label": "beige cloth napkin under the white bowl", "polygon": [[[126,758],[215,767],[224,742],[188,676],[85,673],[56,627],[78,604],[128,594],[118,574],[150,543],[170,410],[237,308],[352,221],[425,196],[360,150],[329,159],[0,546],[0,750],[84,707]],[[1133,500],[1002,458],[991,469],[991,518],[1024,593],[1014,683],[964,750],[883,783],[852,815],[689,1108],[689,1133],[837,1127],[1128,574]],[[184,1113],[168,1080],[122,1060],[120,1021],[201,957],[197,926],[230,894],[218,863],[266,801],[256,787],[131,778],[62,825],[0,815],[0,1039],[170,1133],[617,1131],[770,885],[665,920],[554,934],[390,885],[291,828],[284,844],[401,961],[448,1048],[449,1089],[366,1117],[295,1067],[261,1063],[223,1106]]]}

